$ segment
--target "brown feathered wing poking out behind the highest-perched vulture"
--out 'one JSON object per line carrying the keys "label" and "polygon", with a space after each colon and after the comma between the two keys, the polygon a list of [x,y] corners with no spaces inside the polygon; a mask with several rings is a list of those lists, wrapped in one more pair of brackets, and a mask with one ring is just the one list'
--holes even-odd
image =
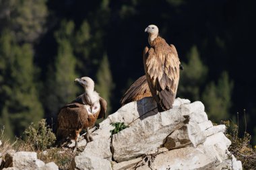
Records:
{"label": "brown feathered wing poking out behind the highest-perched vulture", "polygon": [[152,97],[146,75],[139,77],[139,79],[137,79],[129,89],[127,89],[121,99],[121,105],[125,105],[131,101],[140,100],[144,97]]}

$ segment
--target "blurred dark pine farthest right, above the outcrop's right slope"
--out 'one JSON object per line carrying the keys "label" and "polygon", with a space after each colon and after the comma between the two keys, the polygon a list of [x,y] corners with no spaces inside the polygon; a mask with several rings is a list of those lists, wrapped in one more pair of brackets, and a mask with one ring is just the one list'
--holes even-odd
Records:
{"label": "blurred dark pine farthest right, above the outcrop's right slope", "polygon": [[216,85],[211,82],[203,92],[202,99],[205,104],[205,111],[210,120],[220,122],[230,118],[229,109],[231,107],[231,95],[234,83],[228,78],[228,73],[224,71]]}

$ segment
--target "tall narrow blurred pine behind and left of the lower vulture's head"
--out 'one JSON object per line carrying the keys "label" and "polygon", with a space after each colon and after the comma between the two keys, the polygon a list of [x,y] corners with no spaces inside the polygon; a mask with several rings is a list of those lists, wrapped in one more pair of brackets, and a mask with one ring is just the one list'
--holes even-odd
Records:
{"label": "tall narrow blurred pine behind and left of the lower vulture's head", "polygon": [[73,22],[63,21],[59,31],[55,32],[58,51],[54,65],[49,67],[48,81],[45,83],[44,103],[48,118],[55,118],[59,108],[76,97],[77,86],[73,83],[77,78],[76,61],[71,46],[73,30]]}

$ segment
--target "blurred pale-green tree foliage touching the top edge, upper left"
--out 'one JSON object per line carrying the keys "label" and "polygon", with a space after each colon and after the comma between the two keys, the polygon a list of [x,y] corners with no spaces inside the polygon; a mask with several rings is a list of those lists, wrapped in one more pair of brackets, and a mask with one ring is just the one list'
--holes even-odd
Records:
{"label": "blurred pale-green tree foliage touching the top edge, upper left", "polygon": [[11,12],[10,29],[18,42],[34,42],[45,32],[48,9],[46,0],[18,0]]}

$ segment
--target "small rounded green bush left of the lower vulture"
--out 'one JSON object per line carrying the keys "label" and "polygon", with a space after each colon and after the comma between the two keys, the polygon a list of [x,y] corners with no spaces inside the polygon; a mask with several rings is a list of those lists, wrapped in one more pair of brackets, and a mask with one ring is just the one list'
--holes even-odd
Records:
{"label": "small rounded green bush left of the lower vulture", "polygon": [[37,124],[30,124],[24,131],[24,141],[19,140],[18,143],[25,147],[25,150],[43,151],[53,146],[55,140],[53,130],[46,125],[45,119],[42,119]]}

